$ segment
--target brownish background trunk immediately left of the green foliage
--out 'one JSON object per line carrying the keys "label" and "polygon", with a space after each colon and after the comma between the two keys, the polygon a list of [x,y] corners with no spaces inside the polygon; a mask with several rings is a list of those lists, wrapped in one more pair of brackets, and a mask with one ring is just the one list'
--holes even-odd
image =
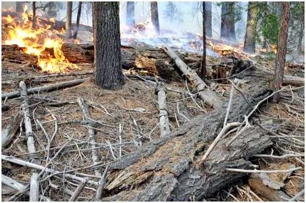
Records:
{"label": "brownish background trunk immediately left of the green foliage", "polygon": [[243,50],[248,53],[255,52],[256,45],[256,27],[257,27],[257,16],[256,13],[257,2],[249,2],[247,8],[247,22],[246,22],[246,32],[244,38]]}

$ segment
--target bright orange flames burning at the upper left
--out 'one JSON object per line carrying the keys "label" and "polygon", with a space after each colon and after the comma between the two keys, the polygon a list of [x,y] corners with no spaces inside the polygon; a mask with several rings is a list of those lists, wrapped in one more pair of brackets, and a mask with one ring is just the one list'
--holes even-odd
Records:
{"label": "bright orange flames burning at the upper left", "polygon": [[[51,25],[42,26],[40,19],[36,19],[37,28],[32,28],[33,15],[27,13],[28,7],[23,7],[21,21],[10,15],[2,17],[3,23],[8,24],[8,37],[4,41],[5,45],[18,45],[23,47],[23,52],[36,55],[38,58],[37,66],[42,71],[55,73],[65,72],[69,69],[78,68],[65,59],[61,50],[64,43],[60,36],[65,31],[51,30]],[[54,18],[49,19],[55,22]]]}

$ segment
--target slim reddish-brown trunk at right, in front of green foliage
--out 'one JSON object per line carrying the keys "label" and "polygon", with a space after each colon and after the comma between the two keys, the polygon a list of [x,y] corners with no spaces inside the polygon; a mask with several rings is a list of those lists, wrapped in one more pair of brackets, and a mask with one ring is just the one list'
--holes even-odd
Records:
{"label": "slim reddish-brown trunk at right, in front of green foliage", "polygon": [[[284,76],[284,68],[286,62],[287,37],[290,18],[290,3],[283,2],[283,14],[281,27],[278,32],[278,43],[276,53],[276,67],[274,70],[273,91],[276,92],[281,88]],[[279,101],[279,93],[273,95],[273,102]]]}

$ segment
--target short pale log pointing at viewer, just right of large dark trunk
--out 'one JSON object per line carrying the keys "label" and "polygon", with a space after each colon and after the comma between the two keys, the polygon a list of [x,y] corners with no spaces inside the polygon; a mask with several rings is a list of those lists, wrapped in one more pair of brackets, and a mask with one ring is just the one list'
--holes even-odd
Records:
{"label": "short pale log pointing at viewer, just right of large dark trunk", "polygon": [[170,133],[168,109],[166,103],[166,89],[162,83],[159,83],[156,88],[159,105],[159,119],[160,119],[160,130],[161,137],[167,136]]}

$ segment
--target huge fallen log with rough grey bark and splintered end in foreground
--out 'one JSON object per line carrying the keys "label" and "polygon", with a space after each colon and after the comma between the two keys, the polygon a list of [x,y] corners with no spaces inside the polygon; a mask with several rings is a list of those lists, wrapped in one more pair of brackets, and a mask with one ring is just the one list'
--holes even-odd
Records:
{"label": "huge fallen log with rough grey bark and splintered end in foreground", "polygon": [[[228,123],[242,122],[243,115],[271,93],[259,91],[256,86],[246,92],[251,106],[242,97],[233,98]],[[168,136],[147,143],[139,151],[111,164],[106,186],[111,196],[102,200],[187,201],[194,197],[199,201],[247,176],[226,168],[251,168],[248,159],[272,145],[269,135],[257,126],[244,131],[230,148],[226,146],[233,135],[223,138],[202,165],[196,164],[223,128],[226,108],[223,104],[209,114],[196,117]]]}

